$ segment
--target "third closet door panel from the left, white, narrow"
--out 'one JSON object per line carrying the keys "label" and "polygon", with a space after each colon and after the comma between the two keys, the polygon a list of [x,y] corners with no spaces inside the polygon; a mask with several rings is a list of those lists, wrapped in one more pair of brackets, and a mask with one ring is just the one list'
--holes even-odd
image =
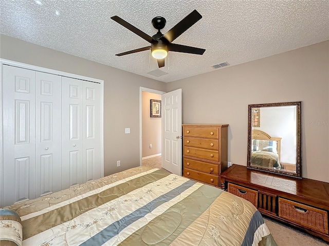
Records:
{"label": "third closet door panel from the left, white, narrow", "polygon": [[83,80],[62,77],[62,188],[83,183]]}

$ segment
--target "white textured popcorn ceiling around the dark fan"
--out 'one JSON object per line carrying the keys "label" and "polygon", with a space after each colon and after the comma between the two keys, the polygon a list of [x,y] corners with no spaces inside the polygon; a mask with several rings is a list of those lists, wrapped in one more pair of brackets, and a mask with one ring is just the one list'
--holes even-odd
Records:
{"label": "white textured popcorn ceiling around the dark fan", "polygon": [[[224,61],[234,66],[329,39],[329,1],[0,1],[5,35],[165,82],[214,71],[211,66]],[[111,16],[152,36],[153,17],[167,19],[164,34],[194,9],[203,18],[173,43],[204,48],[203,55],[169,52],[170,62],[166,58],[161,68],[168,74],[160,77],[148,74],[158,68],[149,51],[115,56],[149,43]]]}

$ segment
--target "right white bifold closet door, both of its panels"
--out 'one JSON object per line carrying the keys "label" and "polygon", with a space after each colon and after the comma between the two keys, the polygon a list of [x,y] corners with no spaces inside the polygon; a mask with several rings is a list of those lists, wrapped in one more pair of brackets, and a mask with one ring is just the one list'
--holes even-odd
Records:
{"label": "right white bifold closet door, both of its panels", "polygon": [[63,189],[101,177],[100,84],[62,78]]}

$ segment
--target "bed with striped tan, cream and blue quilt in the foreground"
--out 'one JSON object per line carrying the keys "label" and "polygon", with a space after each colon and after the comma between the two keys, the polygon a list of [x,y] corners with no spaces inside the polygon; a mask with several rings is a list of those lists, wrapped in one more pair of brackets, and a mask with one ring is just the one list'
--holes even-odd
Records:
{"label": "bed with striped tan, cream and blue quilt in the foreground", "polygon": [[16,203],[0,217],[1,238],[17,245],[277,245],[250,202],[151,167]]}

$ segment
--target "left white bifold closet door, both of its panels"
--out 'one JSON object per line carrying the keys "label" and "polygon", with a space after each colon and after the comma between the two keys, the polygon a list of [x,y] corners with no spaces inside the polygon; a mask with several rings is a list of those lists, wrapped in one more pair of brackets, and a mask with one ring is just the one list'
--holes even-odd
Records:
{"label": "left white bifold closet door, both of its panels", "polygon": [[61,77],[3,66],[4,206],[61,190]]}

